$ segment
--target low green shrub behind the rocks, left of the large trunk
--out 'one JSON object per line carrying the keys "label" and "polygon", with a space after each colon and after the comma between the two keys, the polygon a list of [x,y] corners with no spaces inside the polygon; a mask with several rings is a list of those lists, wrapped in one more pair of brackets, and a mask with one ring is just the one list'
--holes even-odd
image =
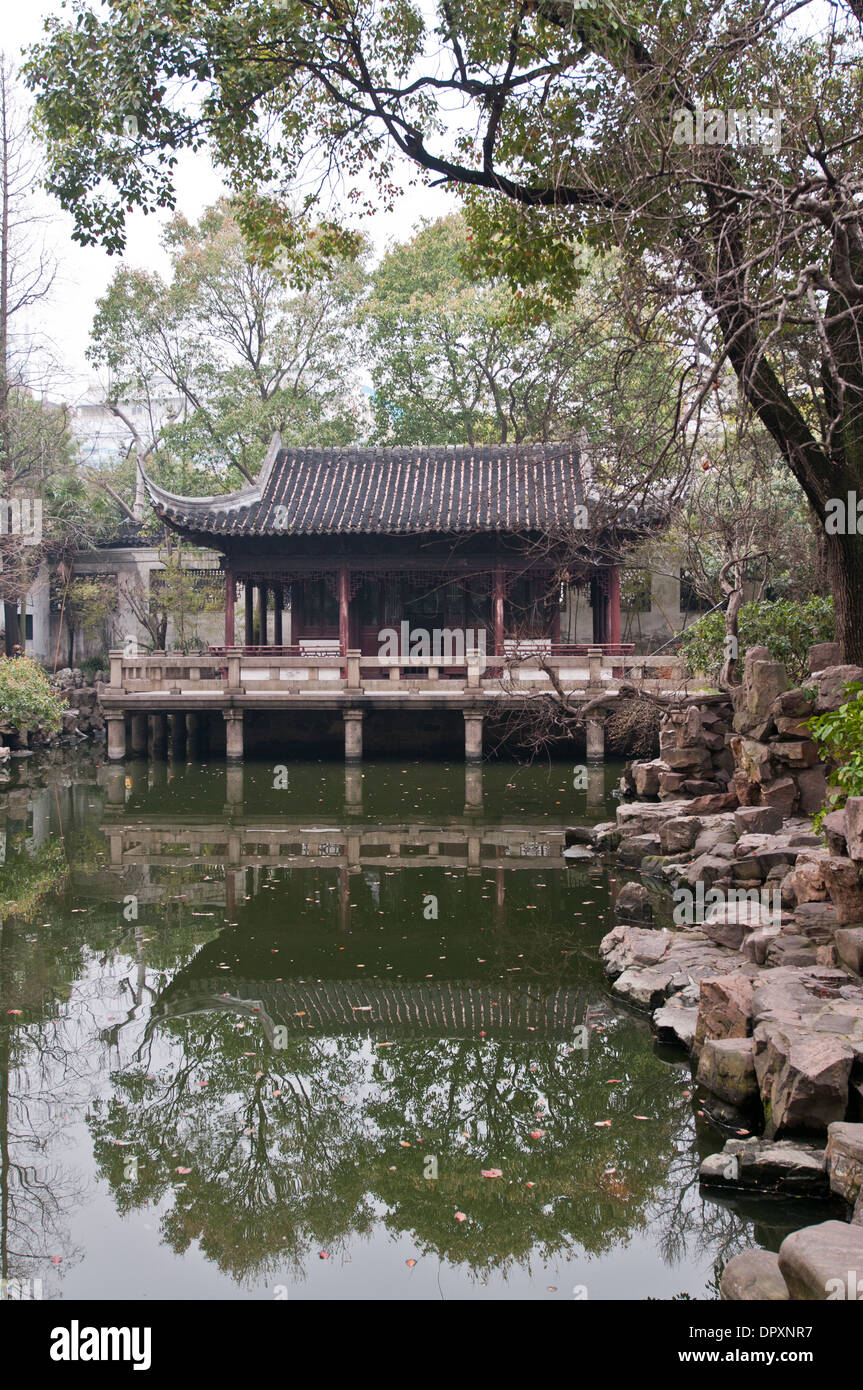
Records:
{"label": "low green shrub behind the rocks, left of the large trunk", "polygon": [[[775,662],[784,662],[798,684],[806,676],[806,653],[816,642],[832,642],[832,599],[813,596],[805,603],[792,599],[743,603],[739,613],[739,648],[766,646]],[[716,678],[725,646],[725,616],[709,613],[681,637],[681,653],[689,671]]]}

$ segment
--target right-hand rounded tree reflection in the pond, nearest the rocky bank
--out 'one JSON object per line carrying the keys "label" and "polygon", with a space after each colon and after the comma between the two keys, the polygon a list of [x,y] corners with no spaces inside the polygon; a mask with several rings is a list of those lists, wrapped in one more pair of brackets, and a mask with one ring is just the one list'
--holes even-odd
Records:
{"label": "right-hand rounded tree reflection in the pond, nearest the rocky bank", "polygon": [[[441,1176],[424,1180],[420,1158],[396,1159],[396,1175],[384,1165],[391,1229],[413,1230],[456,1264],[500,1270],[531,1252],[600,1254],[643,1227],[687,1102],[680,1073],[661,1068],[627,1022],[592,1034],[586,1058],[548,1041],[409,1047],[410,1065],[378,1063],[388,1074],[371,1112],[391,1143],[399,1131],[421,1134]],[[503,1177],[484,1179],[484,1168]],[[456,1209],[468,1218],[461,1226]]]}

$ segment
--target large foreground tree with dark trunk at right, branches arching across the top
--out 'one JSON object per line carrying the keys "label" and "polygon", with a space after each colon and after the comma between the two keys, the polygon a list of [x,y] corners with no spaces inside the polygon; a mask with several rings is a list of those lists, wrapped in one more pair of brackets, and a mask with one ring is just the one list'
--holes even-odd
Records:
{"label": "large foreground tree with dark trunk at right, branches arching across the top", "polygon": [[825,25],[814,0],[74,8],[29,79],[81,240],[121,247],[126,208],[170,206],[178,149],[208,142],[263,246],[296,236],[288,188],[309,215],[340,174],[363,207],[371,168],[386,204],[399,156],[464,193],[478,259],[536,310],[573,293],[585,238],[616,246],[642,318],[691,324],[680,428],[734,368],[825,523],[838,637],[863,660],[863,539],[827,527],[863,495],[862,0]]}

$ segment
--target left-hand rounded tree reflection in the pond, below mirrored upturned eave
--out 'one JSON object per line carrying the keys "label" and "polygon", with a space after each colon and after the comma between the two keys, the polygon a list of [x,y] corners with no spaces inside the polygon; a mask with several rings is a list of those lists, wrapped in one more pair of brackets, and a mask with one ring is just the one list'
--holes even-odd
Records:
{"label": "left-hand rounded tree reflection in the pond, below mirrored upturned eave", "polygon": [[258,1042],[246,1056],[258,1030],[225,1015],[172,1020],[167,1040],[171,1061],[115,1074],[111,1101],[93,1106],[96,1159],[122,1213],[172,1198],[167,1243],[200,1241],[238,1279],[277,1259],[299,1268],[313,1245],[370,1227],[353,1041],[295,1038],[275,1055]]}

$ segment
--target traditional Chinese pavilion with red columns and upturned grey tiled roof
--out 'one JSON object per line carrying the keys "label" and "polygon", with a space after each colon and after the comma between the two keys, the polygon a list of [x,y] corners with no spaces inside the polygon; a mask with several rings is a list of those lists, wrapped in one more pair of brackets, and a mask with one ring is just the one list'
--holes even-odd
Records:
{"label": "traditional Chinese pavilion with red columns and upturned grey tiled roof", "polygon": [[623,548],[661,514],[617,514],[573,443],[297,449],[277,435],[239,492],[182,498],[145,481],[167,525],[222,552],[225,648],[246,652],[374,653],[404,621],[484,630],[495,655],[507,638],[553,646],[577,584],[593,644],[614,653]]}

